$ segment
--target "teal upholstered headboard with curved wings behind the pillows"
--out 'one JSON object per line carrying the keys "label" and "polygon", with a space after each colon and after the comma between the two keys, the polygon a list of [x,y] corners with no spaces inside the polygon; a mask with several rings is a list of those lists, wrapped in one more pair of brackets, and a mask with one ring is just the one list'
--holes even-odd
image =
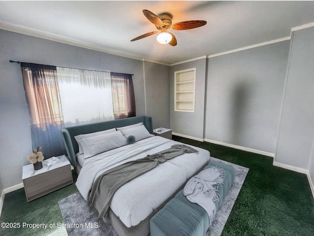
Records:
{"label": "teal upholstered headboard with curved wings behind the pillows", "polygon": [[79,134],[94,133],[94,132],[102,131],[106,129],[112,129],[112,128],[122,127],[126,125],[136,124],[139,122],[143,122],[148,132],[153,134],[153,121],[152,121],[152,118],[148,116],[109,120],[105,122],[84,124],[84,125],[61,129],[65,148],[67,149],[67,152],[68,152],[67,157],[71,165],[73,167],[76,167],[77,165],[75,154],[78,153],[78,143],[75,140],[74,136],[77,136]]}

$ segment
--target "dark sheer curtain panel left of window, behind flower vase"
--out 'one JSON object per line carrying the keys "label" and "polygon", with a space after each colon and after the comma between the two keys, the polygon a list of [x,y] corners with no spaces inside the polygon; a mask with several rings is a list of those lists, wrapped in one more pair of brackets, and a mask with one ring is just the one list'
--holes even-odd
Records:
{"label": "dark sheer curtain panel left of window, behind flower vase", "polygon": [[66,154],[64,127],[55,66],[21,63],[29,109],[32,149],[42,147],[45,159]]}

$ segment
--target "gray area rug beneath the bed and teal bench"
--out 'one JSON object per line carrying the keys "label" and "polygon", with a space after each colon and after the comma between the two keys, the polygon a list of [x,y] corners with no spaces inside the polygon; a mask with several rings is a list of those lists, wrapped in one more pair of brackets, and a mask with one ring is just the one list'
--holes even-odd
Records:
{"label": "gray area rug beneath the bed and teal bench", "polygon": [[[249,169],[214,157],[211,157],[211,160],[219,161],[235,168],[235,182],[230,188],[223,205],[217,211],[211,227],[206,232],[206,236],[220,236]],[[60,200],[58,204],[62,213],[63,223],[69,224],[65,226],[68,236],[118,236],[110,223],[105,227],[96,223],[96,214],[93,211],[89,211],[87,202],[79,192]]]}

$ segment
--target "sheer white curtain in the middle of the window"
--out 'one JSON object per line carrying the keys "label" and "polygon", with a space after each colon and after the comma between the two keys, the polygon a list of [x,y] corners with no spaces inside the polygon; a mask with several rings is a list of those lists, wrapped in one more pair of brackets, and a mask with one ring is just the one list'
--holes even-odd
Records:
{"label": "sheer white curtain in the middle of the window", "polygon": [[114,119],[110,73],[56,69],[66,127]]}

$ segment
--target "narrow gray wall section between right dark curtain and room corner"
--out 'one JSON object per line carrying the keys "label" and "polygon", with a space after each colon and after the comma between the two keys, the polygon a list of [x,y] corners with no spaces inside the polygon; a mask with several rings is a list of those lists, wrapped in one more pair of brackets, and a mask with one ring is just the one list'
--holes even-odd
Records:
{"label": "narrow gray wall section between right dark curtain and room corner", "polygon": [[154,129],[170,128],[169,70],[167,65],[144,61],[146,115],[153,118]]}

